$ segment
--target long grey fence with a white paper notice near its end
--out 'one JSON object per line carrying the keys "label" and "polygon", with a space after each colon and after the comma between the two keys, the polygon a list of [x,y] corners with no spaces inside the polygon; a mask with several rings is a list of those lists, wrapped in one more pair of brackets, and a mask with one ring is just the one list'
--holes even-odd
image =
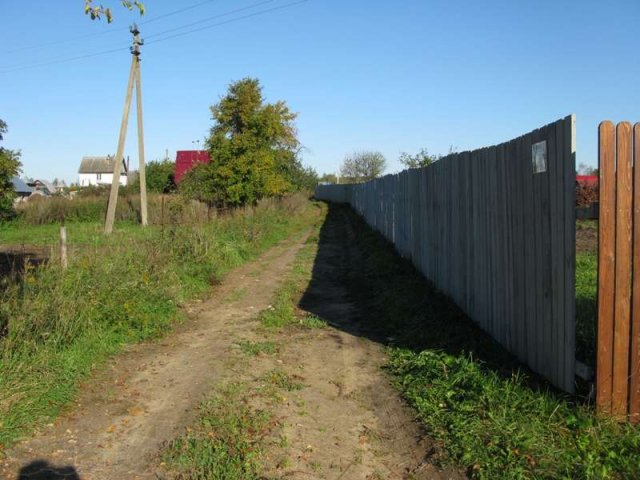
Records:
{"label": "long grey fence with a white paper notice near its end", "polygon": [[358,185],[349,203],[473,320],[574,391],[575,118]]}

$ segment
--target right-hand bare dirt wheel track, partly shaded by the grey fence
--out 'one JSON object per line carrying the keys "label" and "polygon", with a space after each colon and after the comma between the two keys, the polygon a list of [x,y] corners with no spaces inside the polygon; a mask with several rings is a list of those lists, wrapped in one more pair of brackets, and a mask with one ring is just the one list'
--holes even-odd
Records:
{"label": "right-hand bare dirt wheel track, partly shaded by the grey fence", "polygon": [[267,448],[266,477],[465,478],[429,462],[433,445],[381,371],[384,348],[367,338],[360,320],[375,312],[360,311],[349,295],[349,272],[361,261],[353,239],[349,218],[330,214],[300,302],[331,326],[281,332],[278,360],[261,358],[255,365],[282,368],[305,385],[283,402],[255,405],[272,411],[281,425]]}

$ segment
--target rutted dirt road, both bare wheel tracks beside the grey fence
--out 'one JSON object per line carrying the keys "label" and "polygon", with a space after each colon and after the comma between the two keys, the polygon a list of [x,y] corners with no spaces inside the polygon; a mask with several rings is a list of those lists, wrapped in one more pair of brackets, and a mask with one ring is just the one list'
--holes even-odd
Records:
{"label": "rutted dirt road, both bare wheel tracks beside the grey fence", "polygon": [[383,347],[360,335],[362,312],[343,281],[357,255],[350,228],[335,218],[324,225],[300,304],[330,327],[271,333],[278,355],[243,357],[238,343],[264,337],[257,314],[269,307],[303,242],[276,246],[232,272],[164,340],[112,359],[83,386],[68,413],[8,452],[0,478],[20,478],[30,463],[29,473],[45,468],[58,474],[35,478],[162,478],[158,451],[193,422],[203,398],[231,379],[259,384],[274,368],[304,388],[269,405],[281,429],[279,442],[267,442],[266,475],[461,478],[428,463],[432,445],[380,369]]}

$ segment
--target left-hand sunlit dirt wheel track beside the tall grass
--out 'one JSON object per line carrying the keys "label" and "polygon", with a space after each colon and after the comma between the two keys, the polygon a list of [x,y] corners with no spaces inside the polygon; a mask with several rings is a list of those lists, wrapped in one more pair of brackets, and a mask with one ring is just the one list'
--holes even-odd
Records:
{"label": "left-hand sunlit dirt wheel track beside the tall grass", "polygon": [[280,244],[232,271],[173,333],[112,358],[66,414],[7,452],[0,478],[17,478],[35,460],[73,467],[85,480],[155,478],[162,444],[193,421],[215,383],[235,375],[233,339],[268,307],[303,243]]}

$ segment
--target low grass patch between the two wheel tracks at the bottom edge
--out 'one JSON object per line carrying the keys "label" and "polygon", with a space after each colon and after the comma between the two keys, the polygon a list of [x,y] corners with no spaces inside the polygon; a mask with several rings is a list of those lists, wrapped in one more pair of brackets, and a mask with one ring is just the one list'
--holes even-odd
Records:
{"label": "low grass patch between the two wheel tracks at the bottom edge", "polygon": [[165,449],[165,469],[175,479],[251,480],[260,476],[262,438],[272,415],[246,403],[241,385],[227,387],[200,407],[197,423]]}

